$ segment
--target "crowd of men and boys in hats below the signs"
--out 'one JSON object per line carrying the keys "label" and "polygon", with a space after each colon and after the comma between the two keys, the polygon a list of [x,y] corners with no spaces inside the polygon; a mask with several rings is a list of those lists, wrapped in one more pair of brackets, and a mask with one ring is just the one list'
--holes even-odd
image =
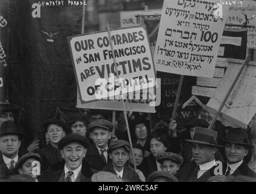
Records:
{"label": "crowd of men and boys in hats below the signs", "polygon": [[[227,182],[256,181],[254,118],[248,129],[207,129],[201,112],[183,124],[152,127],[143,116],[126,130],[104,115],[74,113],[67,122],[44,122],[44,146],[24,144],[9,105],[0,113],[0,181],[30,182]],[[115,136],[113,133],[115,128]],[[171,132],[171,133],[170,133]]]}

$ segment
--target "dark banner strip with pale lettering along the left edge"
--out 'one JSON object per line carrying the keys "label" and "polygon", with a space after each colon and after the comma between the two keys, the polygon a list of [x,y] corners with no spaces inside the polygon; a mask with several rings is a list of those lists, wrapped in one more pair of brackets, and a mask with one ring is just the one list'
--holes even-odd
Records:
{"label": "dark banner strip with pale lettering along the left edge", "polygon": [[8,49],[10,1],[0,2],[0,104],[8,104]]}

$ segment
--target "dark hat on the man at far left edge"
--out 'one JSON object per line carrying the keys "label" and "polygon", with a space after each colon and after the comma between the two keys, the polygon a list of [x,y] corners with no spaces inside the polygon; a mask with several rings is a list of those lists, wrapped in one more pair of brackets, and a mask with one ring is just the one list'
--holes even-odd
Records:
{"label": "dark hat on the man at far left edge", "polygon": [[24,137],[24,133],[18,131],[18,127],[13,121],[4,121],[0,127],[0,136],[18,135],[19,138]]}

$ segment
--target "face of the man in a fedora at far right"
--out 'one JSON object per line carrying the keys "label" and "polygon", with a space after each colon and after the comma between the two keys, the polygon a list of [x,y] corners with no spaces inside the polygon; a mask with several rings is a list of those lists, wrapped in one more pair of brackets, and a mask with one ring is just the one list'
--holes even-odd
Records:
{"label": "face of the man in a fedora at far right", "polygon": [[224,146],[225,155],[229,164],[237,163],[243,160],[248,154],[248,149],[239,144],[226,144]]}

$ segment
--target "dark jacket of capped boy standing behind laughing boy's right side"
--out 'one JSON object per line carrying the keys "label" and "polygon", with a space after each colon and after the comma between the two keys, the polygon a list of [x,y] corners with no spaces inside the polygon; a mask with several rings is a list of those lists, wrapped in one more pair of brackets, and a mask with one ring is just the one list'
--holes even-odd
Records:
{"label": "dark jacket of capped boy standing behind laughing boy's right side", "polygon": [[[107,161],[109,161],[109,156]],[[93,172],[95,172],[95,170],[97,172],[106,166],[94,143],[90,144],[90,146],[87,148],[86,162],[88,162],[89,166],[93,169]]]}

